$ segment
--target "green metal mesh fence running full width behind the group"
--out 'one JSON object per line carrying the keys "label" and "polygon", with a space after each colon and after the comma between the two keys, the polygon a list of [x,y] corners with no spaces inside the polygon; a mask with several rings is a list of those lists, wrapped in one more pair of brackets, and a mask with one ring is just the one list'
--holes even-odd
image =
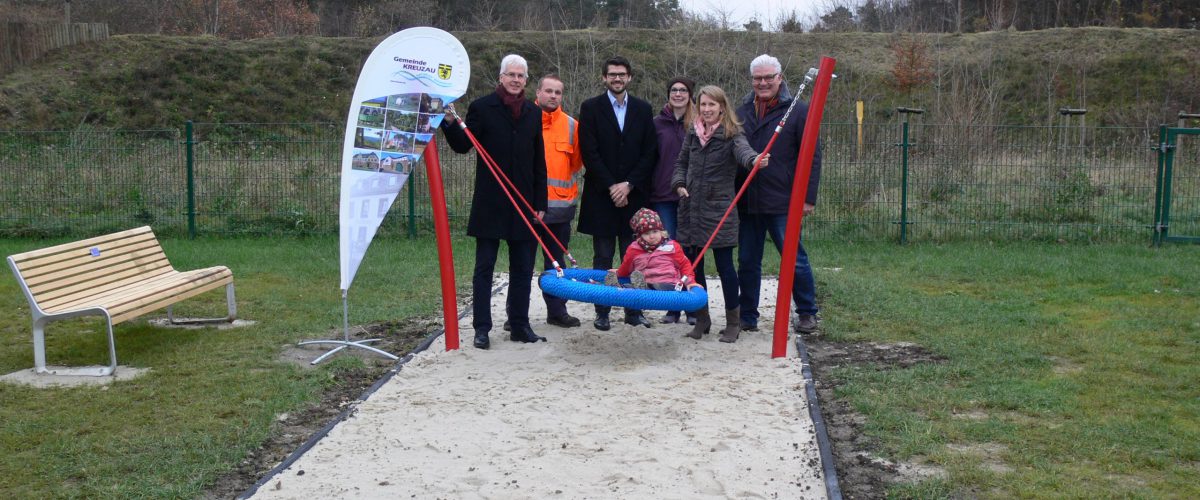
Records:
{"label": "green metal mesh fence running full width behind the group", "polygon": [[[907,128],[905,141],[900,121],[868,124],[859,144],[854,124],[822,126],[820,201],[805,218],[805,239],[1153,236],[1157,128],[919,118]],[[462,230],[474,155],[454,153],[443,141],[439,147],[451,228]],[[341,149],[338,124],[0,132],[0,235],[86,236],[142,224],[178,235],[332,234]],[[1195,175],[1200,158],[1194,145],[1188,151],[1176,151],[1175,169]],[[1184,191],[1175,194],[1172,219],[1195,221],[1198,195]],[[380,233],[428,233],[430,213],[427,180],[418,168]]]}

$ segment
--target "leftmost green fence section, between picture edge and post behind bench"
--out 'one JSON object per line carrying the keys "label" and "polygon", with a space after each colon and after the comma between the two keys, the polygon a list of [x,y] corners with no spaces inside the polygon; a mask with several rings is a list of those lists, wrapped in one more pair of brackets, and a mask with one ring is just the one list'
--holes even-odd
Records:
{"label": "leftmost green fence section, between picture edge and post behind bench", "polygon": [[186,224],[181,132],[0,132],[0,235],[92,235]]}

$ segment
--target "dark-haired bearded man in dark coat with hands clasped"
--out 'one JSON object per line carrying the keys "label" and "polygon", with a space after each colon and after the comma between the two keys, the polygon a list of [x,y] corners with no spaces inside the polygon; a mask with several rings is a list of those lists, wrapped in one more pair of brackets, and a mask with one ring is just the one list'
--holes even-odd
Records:
{"label": "dark-haired bearded man in dark coat with hands clasped", "polygon": [[[583,150],[583,200],[578,230],[592,235],[593,269],[612,269],[634,241],[629,219],[646,206],[650,173],[658,159],[658,135],[650,104],[630,96],[634,67],[622,56],[605,61],[607,91],[580,106],[580,147]],[[607,306],[596,306],[596,330],[608,330]],[[625,323],[650,326],[641,311],[625,309]]]}

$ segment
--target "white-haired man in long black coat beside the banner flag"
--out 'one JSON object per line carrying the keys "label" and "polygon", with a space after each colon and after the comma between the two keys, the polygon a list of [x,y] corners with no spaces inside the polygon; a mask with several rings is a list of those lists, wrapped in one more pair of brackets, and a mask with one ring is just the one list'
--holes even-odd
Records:
{"label": "white-haired man in long black coat beside the banner flag", "polygon": [[[533,205],[539,216],[546,211],[546,159],[541,139],[541,109],[524,98],[529,65],[524,58],[510,54],[500,62],[500,84],[496,92],[480,97],[467,108],[467,128],[496,159],[499,170]],[[455,152],[470,151],[467,133],[451,115],[442,122],[446,143]],[[514,195],[516,199],[516,195]],[[520,204],[520,200],[517,199]],[[475,271],[472,278],[472,326],[475,347],[491,345],[492,271],[500,240],[509,246],[508,317],[515,342],[545,341],[529,327],[529,293],[533,279],[536,242],[522,221],[532,217],[522,205],[512,206],[481,156],[475,162],[475,192],[470,200],[467,235],[475,237]]]}

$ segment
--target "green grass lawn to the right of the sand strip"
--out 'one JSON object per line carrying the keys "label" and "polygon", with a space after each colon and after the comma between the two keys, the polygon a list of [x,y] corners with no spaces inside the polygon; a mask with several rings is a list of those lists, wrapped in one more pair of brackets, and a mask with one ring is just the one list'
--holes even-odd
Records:
{"label": "green grass lawn to the right of the sand strip", "polygon": [[1200,496],[1200,248],[822,249],[830,339],[947,359],[836,374],[881,454],[947,470],[899,496]]}

